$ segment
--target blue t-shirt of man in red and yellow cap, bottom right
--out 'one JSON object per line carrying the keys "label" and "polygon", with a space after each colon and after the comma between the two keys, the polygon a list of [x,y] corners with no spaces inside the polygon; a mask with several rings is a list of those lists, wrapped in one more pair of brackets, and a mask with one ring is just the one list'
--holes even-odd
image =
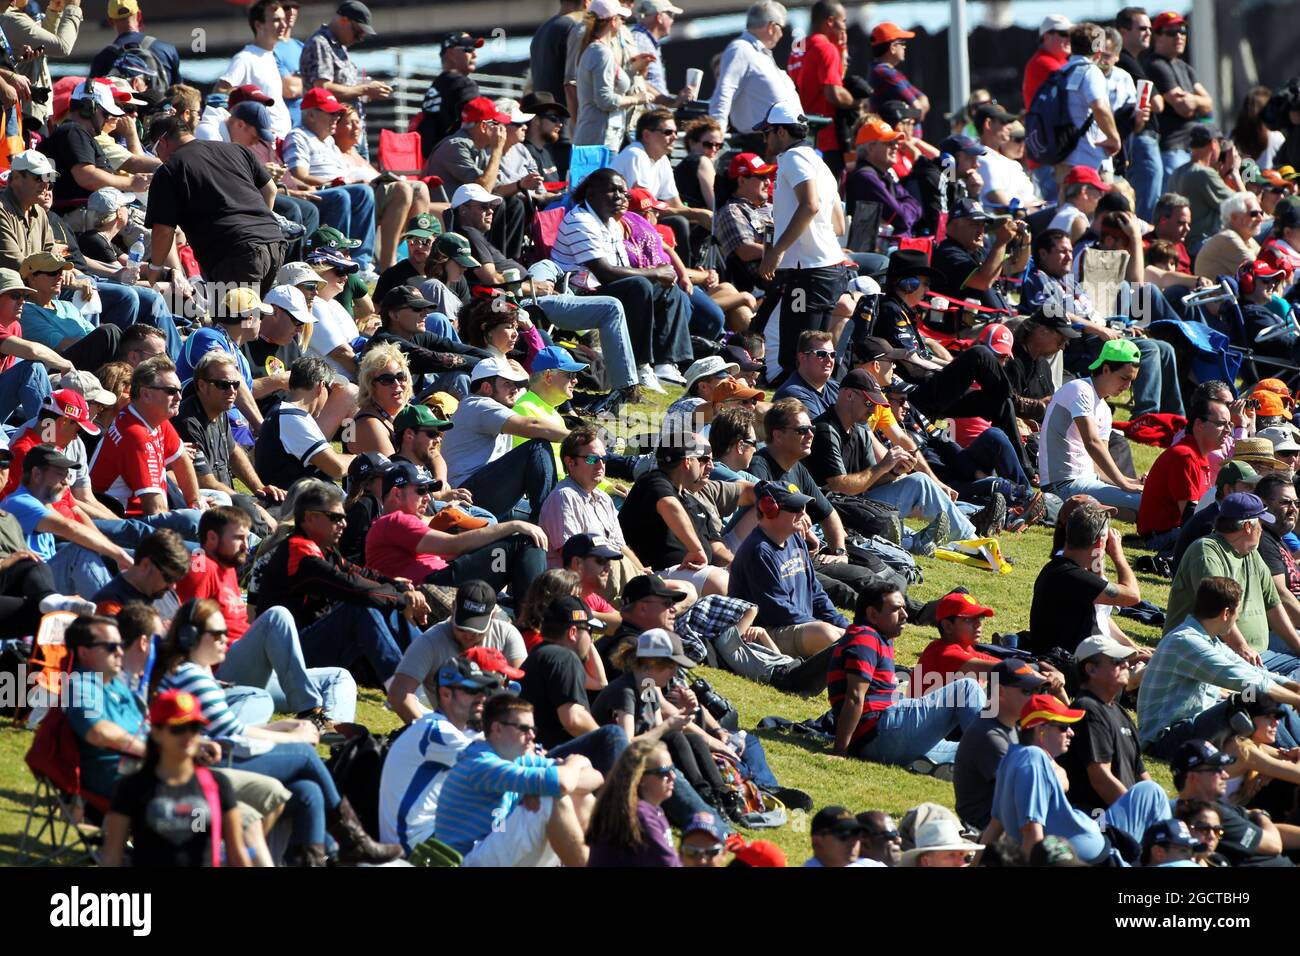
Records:
{"label": "blue t-shirt of man in red and yellow cap, bottom right", "polygon": [[1070,840],[1080,860],[1096,860],[1106,848],[1096,821],[1070,805],[1041,747],[1017,744],[1006,752],[993,788],[993,818],[1011,839],[1019,839],[1026,823],[1039,823],[1044,835]]}

